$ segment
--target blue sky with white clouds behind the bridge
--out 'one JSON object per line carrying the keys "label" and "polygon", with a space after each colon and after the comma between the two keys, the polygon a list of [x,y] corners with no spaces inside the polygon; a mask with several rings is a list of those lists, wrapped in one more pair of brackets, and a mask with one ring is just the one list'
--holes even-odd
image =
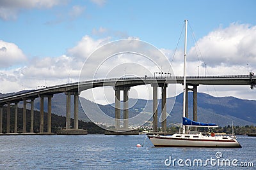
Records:
{"label": "blue sky with white clouds behind the bridge", "polygon": [[[92,53],[119,39],[137,39],[156,47],[172,63],[173,74],[182,76],[184,19],[189,20],[188,75],[247,75],[256,69],[255,6],[254,0],[1,0],[0,92],[79,81],[83,66],[107,57],[86,62]],[[102,62],[99,71],[88,71],[92,75],[88,79],[152,76],[158,71],[136,55],[114,56],[116,60]],[[159,62],[159,67],[164,64]],[[132,88],[131,97],[150,98],[151,92],[145,96],[144,89]],[[175,89],[175,94],[182,92],[181,85]],[[96,102],[106,104],[102,89],[94,91]],[[198,92],[256,100],[249,86],[200,85]],[[109,96],[113,93],[106,90]],[[107,98],[113,103],[114,97]]]}

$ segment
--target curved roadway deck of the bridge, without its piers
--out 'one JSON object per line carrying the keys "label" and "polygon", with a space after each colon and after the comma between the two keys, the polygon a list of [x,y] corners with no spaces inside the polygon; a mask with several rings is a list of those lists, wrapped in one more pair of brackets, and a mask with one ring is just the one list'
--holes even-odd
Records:
{"label": "curved roadway deck of the bridge, without its piers", "polygon": [[[128,77],[128,78],[109,78],[101,80],[80,81],[76,83],[67,83],[62,85],[54,85],[38,90],[27,90],[26,92],[18,92],[11,96],[0,98],[0,104],[7,102],[19,102],[22,99],[33,99],[40,95],[58,94],[62,92],[77,92],[103,86],[125,86],[134,87],[137,85],[145,85],[152,83],[183,83],[183,76],[156,76],[156,77]],[[256,76],[250,78],[249,75],[230,75],[230,76],[187,76],[188,85],[253,85],[256,84]]]}

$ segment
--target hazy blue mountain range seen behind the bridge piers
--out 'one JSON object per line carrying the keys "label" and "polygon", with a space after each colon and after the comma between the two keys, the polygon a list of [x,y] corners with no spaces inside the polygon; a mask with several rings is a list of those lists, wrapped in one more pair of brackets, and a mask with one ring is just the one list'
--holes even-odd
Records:
{"label": "hazy blue mountain range seen behind the bridge piers", "polygon": [[[193,116],[193,94],[189,92],[189,118]],[[175,98],[168,98],[167,103],[173,101]],[[35,100],[35,108],[39,110],[40,99]],[[71,97],[71,113],[74,115],[74,98]],[[167,105],[167,112],[170,116],[167,119],[167,124],[170,126],[173,123],[180,124],[182,117],[182,101],[183,94],[176,97],[175,104],[171,108],[170,104]],[[115,118],[115,104],[101,105],[95,104],[92,101],[81,98],[81,102],[86,106],[88,113],[95,113],[95,108],[104,111],[110,117]],[[129,105],[133,105],[129,110],[129,117],[134,117],[139,113],[152,114],[152,100],[144,99],[129,99]],[[28,104],[29,106],[29,104]],[[22,107],[20,103],[19,107]],[[121,104],[122,107],[122,104]],[[45,112],[47,111],[47,99],[44,105]],[[65,94],[55,94],[52,98],[52,113],[64,116],[66,115],[66,96]],[[159,100],[158,117],[161,114],[161,100]],[[123,113],[121,112],[121,117]],[[90,121],[79,103],[79,120],[86,122]],[[152,121],[152,118],[150,119]],[[236,97],[213,97],[209,94],[198,93],[198,121],[211,122],[220,125],[221,127],[231,125],[256,125],[256,101],[237,99]]]}

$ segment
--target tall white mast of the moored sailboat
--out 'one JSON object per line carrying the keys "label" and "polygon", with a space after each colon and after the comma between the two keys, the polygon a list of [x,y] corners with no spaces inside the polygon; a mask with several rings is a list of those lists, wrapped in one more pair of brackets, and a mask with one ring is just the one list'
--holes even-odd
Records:
{"label": "tall white mast of the moored sailboat", "polygon": [[[186,62],[187,62],[187,28],[188,20],[185,21],[185,45],[184,45],[184,81],[183,81],[183,117],[185,117],[186,112]],[[182,133],[185,134],[185,125],[182,125]]]}

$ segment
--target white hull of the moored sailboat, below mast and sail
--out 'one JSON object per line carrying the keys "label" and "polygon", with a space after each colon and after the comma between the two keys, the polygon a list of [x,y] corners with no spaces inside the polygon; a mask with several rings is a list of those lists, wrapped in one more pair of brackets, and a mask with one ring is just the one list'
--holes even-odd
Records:
{"label": "white hull of the moored sailboat, below mast and sail", "polygon": [[[176,137],[180,136],[180,137]],[[187,136],[187,137],[185,137]],[[195,138],[196,136],[196,138]],[[154,146],[162,147],[224,147],[241,148],[235,138],[230,136],[202,136],[194,134],[173,134],[173,136],[148,136]]]}

